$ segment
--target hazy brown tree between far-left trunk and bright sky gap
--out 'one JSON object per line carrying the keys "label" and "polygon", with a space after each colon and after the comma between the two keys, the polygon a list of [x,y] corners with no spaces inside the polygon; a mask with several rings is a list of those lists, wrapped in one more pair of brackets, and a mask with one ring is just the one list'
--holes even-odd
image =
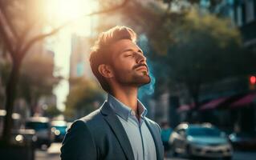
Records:
{"label": "hazy brown tree between far-left trunk and bright sky gap", "polygon": [[21,67],[18,82],[18,97],[26,99],[31,107],[31,115],[35,114],[40,97],[51,95],[54,87],[62,77],[54,76],[54,55],[51,51],[45,53],[30,53],[26,56]]}

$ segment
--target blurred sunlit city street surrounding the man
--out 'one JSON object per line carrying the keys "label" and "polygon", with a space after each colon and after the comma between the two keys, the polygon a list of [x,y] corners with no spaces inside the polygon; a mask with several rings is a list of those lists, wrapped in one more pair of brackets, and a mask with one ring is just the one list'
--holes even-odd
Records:
{"label": "blurred sunlit city street surrounding the man", "polygon": [[256,158],[256,0],[0,0],[1,159],[59,159],[106,98],[88,56],[116,25],[148,59],[166,159]]}

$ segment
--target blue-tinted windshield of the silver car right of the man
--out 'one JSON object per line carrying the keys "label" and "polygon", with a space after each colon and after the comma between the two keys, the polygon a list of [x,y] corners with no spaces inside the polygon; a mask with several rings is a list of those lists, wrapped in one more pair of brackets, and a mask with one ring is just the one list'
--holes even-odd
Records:
{"label": "blue-tinted windshield of the silver car right of the man", "polygon": [[209,127],[189,127],[187,134],[191,136],[221,136],[221,131],[217,128]]}

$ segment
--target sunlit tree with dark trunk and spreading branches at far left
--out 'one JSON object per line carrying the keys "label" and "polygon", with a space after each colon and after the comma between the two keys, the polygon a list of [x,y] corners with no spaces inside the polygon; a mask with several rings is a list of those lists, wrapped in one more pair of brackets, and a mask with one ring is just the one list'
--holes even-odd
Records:
{"label": "sunlit tree with dark trunk and spreading branches at far left", "polygon": [[[16,96],[16,86],[19,77],[20,66],[31,46],[36,42],[43,40],[53,34],[56,34],[63,27],[71,22],[65,22],[61,26],[52,28],[48,33],[43,33],[43,3],[44,1],[0,1],[0,34],[5,44],[7,52],[12,60],[10,76],[6,84],[6,118],[4,122],[2,140],[6,143],[10,142],[10,130],[12,126],[11,114],[13,112],[14,98]],[[86,16],[95,14],[105,14],[115,11],[123,7],[128,0],[115,4],[111,8],[96,11]],[[113,4],[113,3],[112,3]],[[34,32],[34,33],[33,33]],[[33,33],[33,34],[31,34]]]}

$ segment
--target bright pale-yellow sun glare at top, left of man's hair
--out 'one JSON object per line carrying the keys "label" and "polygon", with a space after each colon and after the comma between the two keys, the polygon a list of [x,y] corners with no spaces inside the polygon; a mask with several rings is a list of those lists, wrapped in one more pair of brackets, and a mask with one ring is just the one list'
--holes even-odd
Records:
{"label": "bright pale-yellow sun glare at top, left of man's hair", "polygon": [[96,10],[97,3],[93,0],[47,0],[46,16],[48,21],[59,26],[70,20],[71,30],[77,34],[84,34],[84,30],[90,29],[91,19],[84,16]]}

